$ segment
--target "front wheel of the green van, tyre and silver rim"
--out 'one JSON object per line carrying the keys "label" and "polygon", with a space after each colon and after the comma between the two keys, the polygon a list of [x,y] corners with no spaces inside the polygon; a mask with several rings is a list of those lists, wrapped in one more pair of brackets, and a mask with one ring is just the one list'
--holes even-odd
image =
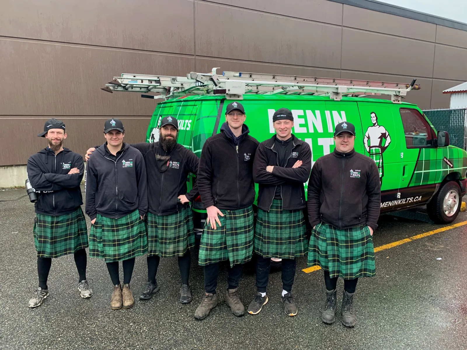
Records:
{"label": "front wheel of the green van, tyre and silver rim", "polygon": [[436,224],[452,223],[460,211],[460,187],[457,182],[446,182],[433,196],[426,209]]}

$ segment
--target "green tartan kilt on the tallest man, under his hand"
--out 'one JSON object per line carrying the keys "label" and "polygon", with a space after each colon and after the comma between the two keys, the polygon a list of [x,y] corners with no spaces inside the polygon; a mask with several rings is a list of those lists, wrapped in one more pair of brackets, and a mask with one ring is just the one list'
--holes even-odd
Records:
{"label": "green tartan kilt on the tallest man, under his hand", "polygon": [[220,210],[220,226],[216,230],[205,224],[199,244],[198,264],[206,266],[229,260],[230,266],[244,264],[253,254],[253,207],[239,210]]}

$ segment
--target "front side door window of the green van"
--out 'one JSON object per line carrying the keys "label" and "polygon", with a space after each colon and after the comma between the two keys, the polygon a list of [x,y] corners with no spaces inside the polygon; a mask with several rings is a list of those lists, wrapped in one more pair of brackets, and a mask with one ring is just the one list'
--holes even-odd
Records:
{"label": "front side door window of the green van", "polygon": [[433,147],[431,127],[416,109],[401,108],[407,148]]}

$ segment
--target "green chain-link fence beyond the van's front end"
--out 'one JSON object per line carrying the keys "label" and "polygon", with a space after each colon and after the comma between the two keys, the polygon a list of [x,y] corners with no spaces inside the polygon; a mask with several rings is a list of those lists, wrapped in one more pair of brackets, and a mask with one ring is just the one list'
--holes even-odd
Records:
{"label": "green chain-link fence beyond the van's front end", "polygon": [[467,108],[461,109],[430,109],[423,111],[432,122],[437,131],[443,130],[449,133],[449,143],[453,146],[466,149]]}

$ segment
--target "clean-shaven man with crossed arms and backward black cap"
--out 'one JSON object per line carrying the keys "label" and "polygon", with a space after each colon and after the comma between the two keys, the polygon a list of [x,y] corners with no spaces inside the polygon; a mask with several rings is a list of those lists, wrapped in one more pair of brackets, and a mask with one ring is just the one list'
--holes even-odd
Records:
{"label": "clean-shaven man with crossed arms and backward black cap", "polygon": [[258,314],[268,302],[271,258],[282,259],[282,302],[286,315],[297,315],[292,296],[296,258],[308,251],[305,238],[304,182],[310,176],[311,149],[292,134],[293,115],[287,108],[273,117],[276,134],[260,143],[253,163],[253,178],[259,184],[254,251],[256,253],[255,299],[248,313]]}

